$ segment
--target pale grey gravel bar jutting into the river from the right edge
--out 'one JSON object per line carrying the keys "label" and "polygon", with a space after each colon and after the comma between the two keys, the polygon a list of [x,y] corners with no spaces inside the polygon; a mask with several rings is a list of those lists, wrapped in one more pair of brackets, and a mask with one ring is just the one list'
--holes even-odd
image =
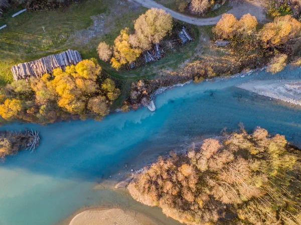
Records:
{"label": "pale grey gravel bar jutting into the river from the right edge", "polygon": [[259,95],[301,106],[301,80],[254,80],[237,85],[236,87],[254,92]]}

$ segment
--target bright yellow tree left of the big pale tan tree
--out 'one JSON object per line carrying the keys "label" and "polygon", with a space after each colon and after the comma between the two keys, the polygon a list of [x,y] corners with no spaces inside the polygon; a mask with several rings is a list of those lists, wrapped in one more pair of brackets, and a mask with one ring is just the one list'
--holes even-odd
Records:
{"label": "bright yellow tree left of the big pale tan tree", "polygon": [[128,43],[128,28],[120,31],[120,35],[114,41],[113,57],[111,65],[118,70],[122,65],[134,62],[141,54],[141,50],[132,48]]}

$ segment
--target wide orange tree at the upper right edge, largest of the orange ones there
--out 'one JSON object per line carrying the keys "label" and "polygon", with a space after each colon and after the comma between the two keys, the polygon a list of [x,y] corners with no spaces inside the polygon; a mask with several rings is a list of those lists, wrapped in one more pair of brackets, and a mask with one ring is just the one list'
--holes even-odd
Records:
{"label": "wide orange tree at the upper right edge, largest of the orange ones there", "polygon": [[279,46],[300,33],[301,23],[290,15],[277,17],[265,24],[259,32],[259,39],[268,46]]}

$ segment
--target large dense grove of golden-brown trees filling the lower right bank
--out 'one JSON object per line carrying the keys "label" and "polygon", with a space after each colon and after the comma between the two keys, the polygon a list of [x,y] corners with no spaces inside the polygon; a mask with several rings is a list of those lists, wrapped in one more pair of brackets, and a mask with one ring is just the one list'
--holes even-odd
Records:
{"label": "large dense grove of golden-brown trees filling the lower right bank", "polygon": [[159,157],[128,189],[186,224],[300,224],[300,156],[284,136],[242,129]]}

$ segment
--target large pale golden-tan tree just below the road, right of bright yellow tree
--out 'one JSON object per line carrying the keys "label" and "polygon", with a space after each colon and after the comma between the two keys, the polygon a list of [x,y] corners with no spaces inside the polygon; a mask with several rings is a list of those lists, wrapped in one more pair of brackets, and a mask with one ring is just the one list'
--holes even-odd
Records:
{"label": "large pale golden-tan tree just below the road, right of bright yellow tree", "polygon": [[[170,14],[162,9],[152,8],[139,16],[134,22],[136,45],[143,50],[148,50],[152,44],[159,43],[173,27]],[[132,42],[134,42],[132,40]]]}

